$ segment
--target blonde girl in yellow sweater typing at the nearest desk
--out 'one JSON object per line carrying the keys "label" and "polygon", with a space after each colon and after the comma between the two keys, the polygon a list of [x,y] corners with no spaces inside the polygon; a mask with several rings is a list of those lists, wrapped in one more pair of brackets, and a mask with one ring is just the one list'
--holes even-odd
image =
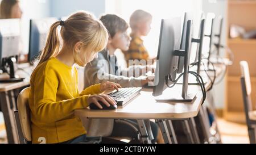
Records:
{"label": "blonde girl in yellow sweater typing at the nearest desk", "polygon": [[[60,43],[58,27],[61,26]],[[108,31],[88,12],[77,12],[65,22],[53,23],[38,66],[31,75],[29,105],[31,109],[32,143],[82,142],[86,131],[74,110],[90,103],[102,108],[99,100],[110,106],[116,104],[108,95],[101,94],[119,86],[103,82],[86,88],[79,94],[77,69],[85,66],[108,43]]]}

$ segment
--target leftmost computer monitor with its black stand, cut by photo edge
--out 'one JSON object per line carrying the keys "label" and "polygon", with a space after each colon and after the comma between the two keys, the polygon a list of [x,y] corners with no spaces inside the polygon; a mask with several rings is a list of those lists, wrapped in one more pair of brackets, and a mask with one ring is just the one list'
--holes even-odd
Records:
{"label": "leftmost computer monitor with its black stand, cut by photo edge", "polygon": [[23,78],[16,78],[14,65],[19,55],[20,20],[0,19],[0,67],[10,78],[0,79],[2,82],[18,82]]}

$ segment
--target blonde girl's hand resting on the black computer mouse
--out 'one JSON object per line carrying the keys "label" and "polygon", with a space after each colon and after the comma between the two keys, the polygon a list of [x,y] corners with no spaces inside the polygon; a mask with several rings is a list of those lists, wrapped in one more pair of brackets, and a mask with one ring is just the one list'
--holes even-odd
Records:
{"label": "blonde girl's hand resting on the black computer mouse", "polygon": [[105,95],[105,94],[90,95],[90,97],[87,99],[87,103],[96,104],[97,107],[102,109],[103,107],[101,106],[101,104],[98,101],[101,101],[107,107],[109,107],[110,104],[112,104],[113,106],[115,106],[115,104],[117,104],[117,102],[115,102],[115,100],[112,97],[109,97],[109,95]]}

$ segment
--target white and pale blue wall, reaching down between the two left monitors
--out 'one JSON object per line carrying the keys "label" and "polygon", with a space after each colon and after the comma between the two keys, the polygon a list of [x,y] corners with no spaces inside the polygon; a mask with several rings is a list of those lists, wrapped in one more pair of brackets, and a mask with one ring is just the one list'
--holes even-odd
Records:
{"label": "white and pale blue wall, reaching down between the two left monitors", "polygon": [[30,19],[49,16],[60,18],[76,10],[87,10],[97,17],[105,12],[105,0],[20,0],[20,6],[23,10],[21,32],[24,54],[28,53]]}

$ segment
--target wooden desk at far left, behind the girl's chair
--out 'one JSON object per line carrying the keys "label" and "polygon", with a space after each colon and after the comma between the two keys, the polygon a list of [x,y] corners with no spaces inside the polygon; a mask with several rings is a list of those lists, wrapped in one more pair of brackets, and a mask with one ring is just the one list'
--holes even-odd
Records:
{"label": "wooden desk at far left, behind the girl's chair", "polygon": [[[22,64],[22,68],[24,66],[29,67],[29,64]],[[0,83],[0,107],[5,119],[8,143],[11,144],[19,143],[18,131],[14,116],[14,111],[17,110],[14,90],[30,85],[30,76],[28,76],[28,73],[25,73],[23,70],[17,70],[15,74],[26,79],[24,79],[22,82]],[[9,77],[6,73],[0,75],[0,78],[6,77]]]}

